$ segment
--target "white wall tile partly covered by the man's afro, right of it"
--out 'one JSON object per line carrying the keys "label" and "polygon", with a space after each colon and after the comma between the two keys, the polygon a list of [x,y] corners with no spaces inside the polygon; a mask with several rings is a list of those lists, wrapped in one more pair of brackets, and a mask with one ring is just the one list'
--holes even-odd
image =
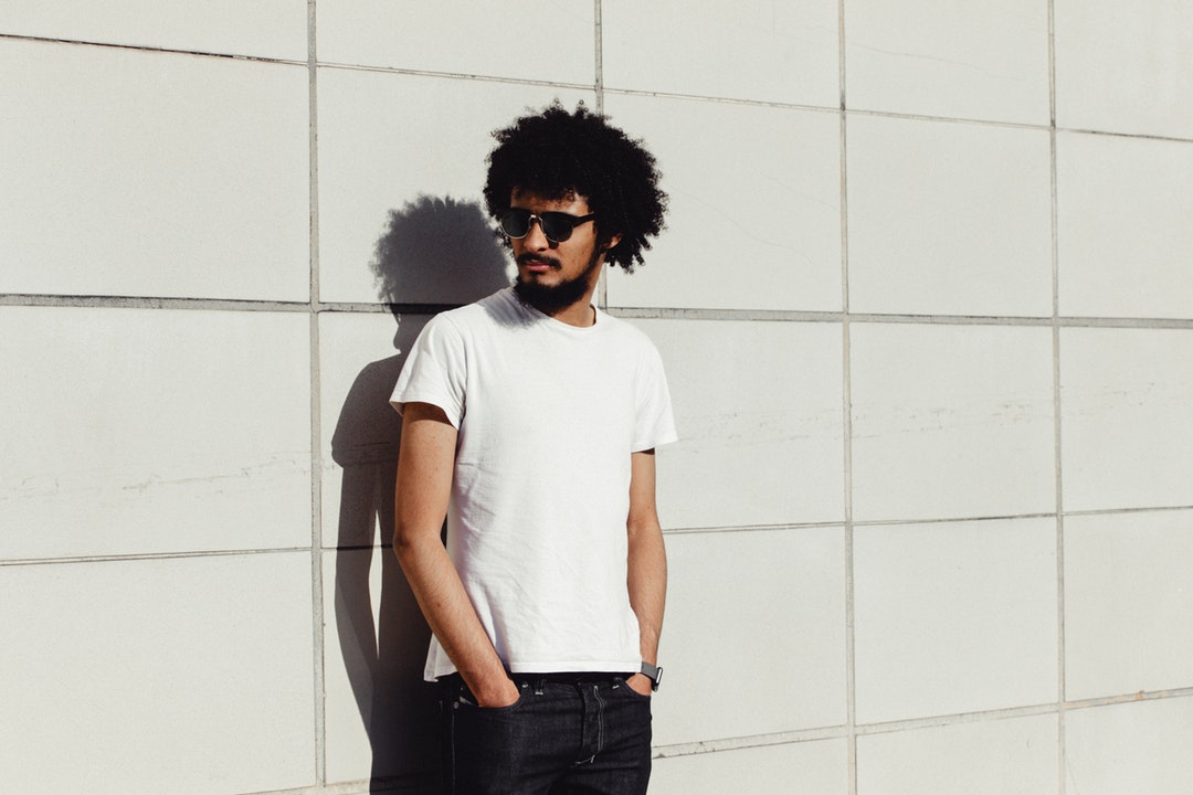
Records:
{"label": "white wall tile partly covered by the man's afro, right of it", "polygon": [[659,159],[667,229],[611,306],[841,309],[840,122],[756,105],[610,97]]}

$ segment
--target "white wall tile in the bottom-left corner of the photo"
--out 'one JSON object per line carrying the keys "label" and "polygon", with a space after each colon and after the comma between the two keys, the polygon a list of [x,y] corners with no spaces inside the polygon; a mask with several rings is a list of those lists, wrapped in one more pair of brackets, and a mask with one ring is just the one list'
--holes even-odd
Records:
{"label": "white wall tile in the bottom-left corner of the photo", "polygon": [[200,795],[315,782],[310,554],[0,567],[0,780]]}

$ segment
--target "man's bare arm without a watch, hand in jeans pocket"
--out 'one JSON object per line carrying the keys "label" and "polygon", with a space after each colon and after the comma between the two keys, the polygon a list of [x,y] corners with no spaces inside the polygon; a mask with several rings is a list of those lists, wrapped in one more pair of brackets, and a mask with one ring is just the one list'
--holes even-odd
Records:
{"label": "man's bare arm without a watch, hand in jeans pocket", "polygon": [[456,429],[438,406],[407,403],[397,459],[394,552],[422,615],[482,707],[518,700],[439,530],[447,515]]}

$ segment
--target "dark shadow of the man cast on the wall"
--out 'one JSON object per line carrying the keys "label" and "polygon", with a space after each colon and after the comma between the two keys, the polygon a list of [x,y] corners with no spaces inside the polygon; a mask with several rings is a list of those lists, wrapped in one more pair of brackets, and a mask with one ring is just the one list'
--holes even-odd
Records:
{"label": "dark shadow of the man cast on the wall", "polygon": [[[372,749],[371,793],[435,793],[439,787],[438,694],[422,682],[431,631],[390,535],[401,417],[389,397],[426,321],[507,286],[506,261],[478,204],[420,195],[390,210],[371,263],[379,297],[397,319],[397,354],[360,371],[332,436],[332,458],[344,470],[335,619]],[[375,622],[370,578],[378,528],[381,598]]]}

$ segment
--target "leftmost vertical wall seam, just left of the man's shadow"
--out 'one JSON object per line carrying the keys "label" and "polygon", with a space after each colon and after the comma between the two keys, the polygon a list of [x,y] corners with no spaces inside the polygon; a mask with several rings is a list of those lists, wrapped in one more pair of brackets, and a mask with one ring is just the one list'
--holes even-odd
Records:
{"label": "leftmost vertical wall seam, just left of the man's shadow", "polygon": [[319,339],[319,60],[315,50],[315,2],[307,0],[307,80],[308,80],[308,167],[310,194],[309,278],[308,296],[310,334],[310,574],[311,574],[311,636],[314,654],[315,710],[315,783],[327,787],[327,719],[326,671],[323,654],[323,491],[322,491],[322,400],[320,393]]}

